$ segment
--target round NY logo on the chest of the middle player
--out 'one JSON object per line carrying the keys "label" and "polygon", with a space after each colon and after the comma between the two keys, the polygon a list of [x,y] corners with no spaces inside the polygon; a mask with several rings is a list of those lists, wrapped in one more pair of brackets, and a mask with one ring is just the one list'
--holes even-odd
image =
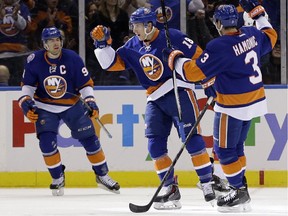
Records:
{"label": "round NY logo on the chest of the middle player", "polygon": [[159,58],[145,54],[139,59],[145,75],[152,81],[157,81],[163,74],[163,64]]}

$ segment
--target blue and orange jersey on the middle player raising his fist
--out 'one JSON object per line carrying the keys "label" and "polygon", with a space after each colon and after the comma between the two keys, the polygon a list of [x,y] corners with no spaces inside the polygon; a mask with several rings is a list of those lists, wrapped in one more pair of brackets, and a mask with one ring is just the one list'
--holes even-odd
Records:
{"label": "blue and orange jersey on the middle player raising his fist", "polygon": [[[181,49],[181,51],[192,59],[200,56],[202,49],[197,46],[185,34],[176,29],[169,29],[169,35],[172,46]],[[156,30],[149,45],[139,41],[137,36],[132,37],[125,45],[116,51],[112,63],[108,66],[108,71],[119,71],[131,68],[136,74],[139,83],[147,90],[147,95],[152,94],[157,89],[165,88],[160,94],[165,94],[173,89],[172,71],[167,63],[162,62],[162,50],[167,46],[164,30]],[[99,50],[101,51],[101,50]],[[102,51],[101,51],[102,52]],[[97,56],[99,62],[105,62],[102,59],[104,55]],[[178,87],[191,87],[190,83],[184,82],[179,76]],[[170,83],[171,81],[171,83]],[[163,85],[165,83],[165,85]]]}

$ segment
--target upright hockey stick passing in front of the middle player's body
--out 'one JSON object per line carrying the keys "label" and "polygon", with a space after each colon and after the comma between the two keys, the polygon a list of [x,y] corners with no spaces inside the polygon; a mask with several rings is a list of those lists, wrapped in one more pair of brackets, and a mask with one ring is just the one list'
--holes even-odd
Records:
{"label": "upright hockey stick passing in front of the middle player's body", "polygon": [[[167,47],[172,49],[164,0],[161,0],[161,8],[162,8],[163,25],[164,25],[164,29],[165,29],[165,37],[166,37]],[[178,121],[178,127],[179,127],[179,134],[180,134],[182,142],[184,142],[185,141],[185,133],[184,133],[183,122],[182,122],[182,110],[181,110],[181,104],[180,104],[180,99],[179,99],[177,79],[176,79],[176,71],[175,70],[173,70],[172,77],[173,77],[173,89],[174,89],[177,112],[178,112],[177,121]]]}

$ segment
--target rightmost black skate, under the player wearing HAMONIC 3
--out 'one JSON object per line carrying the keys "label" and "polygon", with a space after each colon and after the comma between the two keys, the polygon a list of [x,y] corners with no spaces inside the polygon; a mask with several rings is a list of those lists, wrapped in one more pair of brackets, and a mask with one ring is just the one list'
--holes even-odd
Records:
{"label": "rightmost black skate, under the player wearing HAMONIC 3", "polygon": [[217,205],[219,212],[248,212],[251,211],[251,198],[248,193],[246,178],[243,178],[244,186],[235,188],[230,186],[228,194],[218,198]]}

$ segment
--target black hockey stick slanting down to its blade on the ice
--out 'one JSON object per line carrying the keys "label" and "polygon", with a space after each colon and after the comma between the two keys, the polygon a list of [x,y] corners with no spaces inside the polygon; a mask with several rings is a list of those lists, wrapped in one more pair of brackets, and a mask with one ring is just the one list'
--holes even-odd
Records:
{"label": "black hockey stick slanting down to its blade on the ice", "polygon": [[213,97],[209,97],[207,100],[207,103],[205,104],[203,110],[201,111],[200,115],[198,116],[195,124],[193,125],[193,127],[191,128],[189,134],[187,135],[187,138],[185,140],[185,142],[182,144],[181,149],[179,150],[179,152],[177,153],[176,157],[174,158],[174,160],[172,161],[171,166],[169,167],[169,170],[166,172],[165,176],[163,177],[159,187],[157,188],[156,192],[154,193],[152,199],[150,200],[150,202],[147,205],[144,206],[140,206],[140,205],[135,205],[133,203],[129,203],[129,208],[130,211],[134,212],[134,213],[142,213],[142,212],[147,212],[150,207],[152,206],[154,199],[157,197],[157,195],[159,194],[160,190],[162,189],[164,182],[167,180],[168,176],[170,175],[172,169],[174,168],[175,164],[177,163],[180,155],[182,154],[184,148],[186,147],[187,143],[190,141],[191,137],[194,135],[194,133],[196,132],[196,128],[199,125],[202,117],[204,116],[205,112],[207,111],[209,105],[212,105],[214,98]]}

